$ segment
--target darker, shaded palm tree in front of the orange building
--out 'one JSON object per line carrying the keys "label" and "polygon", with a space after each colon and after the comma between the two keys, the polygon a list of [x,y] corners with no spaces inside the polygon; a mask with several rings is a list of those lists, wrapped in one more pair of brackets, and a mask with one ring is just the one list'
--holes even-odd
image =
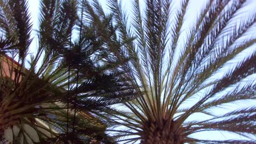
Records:
{"label": "darker, shaded palm tree in front of the orange building", "polygon": [[[112,70],[118,64],[104,60],[106,49],[80,3],[41,2],[37,47],[27,1],[0,1],[0,8],[1,142],[113,143],[108,125],[92,113],[120,103],[123,95],[113,93],[129,85]],[[29,56],[30,47],[37,52]]]}

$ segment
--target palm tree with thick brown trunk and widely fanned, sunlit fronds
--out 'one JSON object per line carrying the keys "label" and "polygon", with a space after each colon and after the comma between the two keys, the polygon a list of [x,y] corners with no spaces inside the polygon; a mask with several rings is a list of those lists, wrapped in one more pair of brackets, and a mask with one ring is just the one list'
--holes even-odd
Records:
{"label": "palm tree with thick brown trunk and widely fanned, sunlit fronds", "polygon": [[[106,107],[99,114],[119,142],[135,143],[253,143],[255,105],[235,106],[218,113],[217,107],[255,99],[255,13],[247,14],[245,1],[207,1],[199,15],[185,26],[189,0],[132,1],[130,15],[117,0],[104,13],[97,2],[84,2],[88,20],[106,45],[115,45],[108,61],[120,65],[137,98],[123,100],[122,109]],[[113,17],[111,27],[103,27]],[[237,22],[238,21],[238,22]],[[113,35],[111,28],[116,29]],[[112,34],[112,37],[109,37]],[[252,49],[253,47],[253,49]],[[243,58],[242,51],[251,49]],[[118,50],[118,51],[116,51]],[[236,62],[234,59],[240,59]],[[225,70],[228,68],[228,70]],[[121,94],[121,93],[119,93]],[[222,109],[223,110],[223,109]],[[197,116],[196,119],[191,119]],[[202,118],[206,117],[206,118]],[[117,128],[118,125],[122,126]],[[125,128],[124,128],[125,127]],[[229,131],[237,140],[193,137],[203,131]],[[247,137],[247,139],[241,138]]]}

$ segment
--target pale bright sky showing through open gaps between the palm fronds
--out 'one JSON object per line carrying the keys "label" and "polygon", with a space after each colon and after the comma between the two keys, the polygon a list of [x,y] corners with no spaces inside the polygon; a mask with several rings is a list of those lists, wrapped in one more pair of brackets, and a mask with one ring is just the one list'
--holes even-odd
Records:
{"label": "pale bright sky showing through open gaps between the palm fronds", "polygon": [[[102,4],[102,7],[104,10],[108,10],[107,6],[106,6],[106,1],[107,0],[100,0],[100,3]],[[187,16],[185,17],[185,19],[187,20],[187,26],[185,26],[185,28],[183,29],[184,31],[186,31],[186,27],[188,28],[190,25],[190,20],[194,20],[194,17],[197,16],[196,14],[200,11],[201,9],[201,5],[203,5],[207,0],[191,0],[190,4],[189,4],[189,8],[187,11]],[[124,9],[126,9],[127,14],[129,15],[130,13],[130,8],[131,8],[131,4],[130,4],[130,0],[123,0],[123,7]],[[38,25],[39,25],[39,3],[40,0],[28,0],[28,4],[29,4],[29,10],[31,13],[31,21],[33,21],[33,32],[32,35],[36,36],[36,31],[38,29]],[[251,13],[250,11],[253,11],[256,9],[256,0],[250,0],[248,1],[248,5],[245,9],[246,13]],[[238,20],[239,21],[239,20]],[[36,47],[37,47],[37,38],[34,37],[34,40],[32,41],[31,47],[30,47],[30,53],[35,53],[36,52]],[[255,51],[255,46],[251,47],[251,49],[248,49],[247,51],[243,52],[242,55],[248,55],[249,51]],[[236,63],[236,62],[234,62]],[[252,76],[252,79],[256,79],[256,76]],[[239,106],[244,106],[244,105],[248,105],[247,102],[246,103],[241,103],[241,104],[237,104],[237,107]],[[252,104],[253,105],[253,104]],[[237,107],[230,107],[227,106],[226,109],[236,109]],[[216,113],[221,113],[223,112],[223,109],[216,109]],[[198,118],[198,117],[203,117],[203,116],[193,116],[191,117],[193,118]],[[215,139],[215,140],[226,140],[226,139],[236,139],[237,135],[234,134],[230,134],[230,133],[226,133],[226,132],[219,132],[219,131],[208,131],[205,133],[200,133],[200,134],[194,134],[193,136],[195,137],[200,137],[203,139]],[[256,140],[256,137],[254,136],[253,139]]]}

